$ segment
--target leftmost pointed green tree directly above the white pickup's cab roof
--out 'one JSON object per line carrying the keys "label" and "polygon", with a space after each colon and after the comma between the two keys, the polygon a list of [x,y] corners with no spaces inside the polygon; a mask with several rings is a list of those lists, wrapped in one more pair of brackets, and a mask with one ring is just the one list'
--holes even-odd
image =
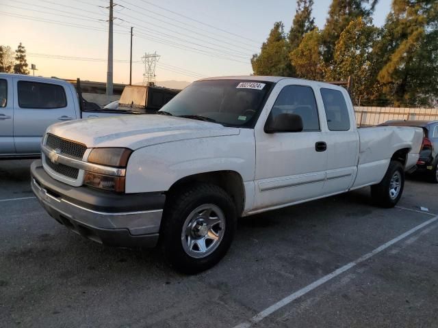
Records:
{"label": "leftmost pointed green tree directly above the white pickup's cab roof", "polygon": [[254,74],[292,76],[292,65],[288,59],[288,49],[283,23],[276,22],[269,33],[268,39],[263,42],[260,53],[253,55],[251,59]]}

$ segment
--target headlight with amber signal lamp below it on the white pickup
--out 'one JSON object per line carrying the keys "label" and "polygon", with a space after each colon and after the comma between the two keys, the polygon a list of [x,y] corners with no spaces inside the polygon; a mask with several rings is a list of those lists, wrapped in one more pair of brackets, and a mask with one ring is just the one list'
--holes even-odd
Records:
{"label": "headlight with amber signal lamp below it on the white pickup", "polygon": [[[126,168],[131,153],[132,150],[128,148],[94,148],[88,156],[88,163]],[[86,171],[83,183],[94,188],[125,192],[125,176],[107,176]]]}

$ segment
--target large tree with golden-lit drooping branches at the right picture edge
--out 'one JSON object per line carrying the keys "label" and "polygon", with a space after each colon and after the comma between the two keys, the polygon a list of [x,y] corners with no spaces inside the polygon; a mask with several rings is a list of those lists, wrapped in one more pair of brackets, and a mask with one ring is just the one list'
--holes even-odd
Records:
{"label": "large tree with golden-lit drooping branches at the right picture edge", "polygon": [[438,2],[393,0],[376,57],[378,81],[396,106],[427,105],[438,96]]}

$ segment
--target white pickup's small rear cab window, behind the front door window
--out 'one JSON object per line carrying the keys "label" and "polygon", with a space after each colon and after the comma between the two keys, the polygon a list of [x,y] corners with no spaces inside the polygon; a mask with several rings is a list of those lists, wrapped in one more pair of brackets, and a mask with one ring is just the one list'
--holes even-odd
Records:
{"label": "white pickup's small rear cab window, behind the front door window", "polygon": [[350,115],[344,95],[339,90],[321,88],[322,102],[330,131],[350,130]]}

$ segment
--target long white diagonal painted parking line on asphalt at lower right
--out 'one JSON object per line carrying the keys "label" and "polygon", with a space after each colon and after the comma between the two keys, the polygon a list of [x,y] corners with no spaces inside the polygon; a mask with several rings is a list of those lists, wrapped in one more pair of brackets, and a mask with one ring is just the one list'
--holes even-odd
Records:
{"label": "long white diagonal painted parking line on asphalt at lower right", "polygon": [[[425,213],[425,214],[428,214],[428,213]],[[310,292],[311,290],[321,286],[322,284],[329,282],[329,280],[333,279],[334,277],[337,277],[338,275],[344,273],[345,271],[348,271],[352,267],[355,267],[357,264],[364,262],[365,260],[368,260],[369,258],[372,258],[372,256],[380,253],[381,251],[387,249],[388,247],[391,247],[395,243],[398,243],[398,241],[401,241],[403,238],[406,238],[407,236],[414,234],[418,230],[430,225],[431,223],[434,223],[435,221],[438,221],[438,216],[435,216],[432,219],[425,221],[418,226],[415,226],[411,230],[404,232],[404,234],[400,234],[400,236],[398,236],[394,239],[391,239],[391,241],[388,241],[387,243],[377,247],[373,251],[370,251],[370,253],[367,253],[367,254],[361,256],[357,260],[344,265],[344,267],[341,267],[341,268],[333,271],[332,273],[329,273],[328,275],[324,275],[324,277],[322,277],[322,278],[316,280],[315,282],[305,286],[304,288],[301,288],[300,290],[292,293],[291,295],[285,297],[284,299],[281,299],[280,301],[278,301],[274,305],[271,305],[269,308],[266,308],[265,310],[259,312],[255,316],[253,316],[253,318],[250,318],[250,320],[248,320],[244,323],[241,323],[240,325],[237,325],[234,328],[248,328],[255,323],[259,323],[261,320],[263,320],[263,318],[270,316],[270,314],[283,308],[285,305],[288,305],[292,301],[298,299],[299,297],[302,297],[303,295],[305,295],[308,292]]]}

